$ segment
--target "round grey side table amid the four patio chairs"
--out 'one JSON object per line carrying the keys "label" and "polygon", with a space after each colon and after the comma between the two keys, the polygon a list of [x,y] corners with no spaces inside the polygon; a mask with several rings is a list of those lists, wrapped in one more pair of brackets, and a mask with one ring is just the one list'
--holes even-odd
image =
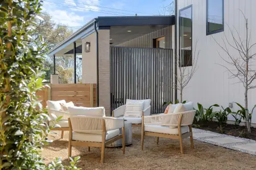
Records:
{"label": "round grey side table amid the four patio chairs", "polygon": [[[119,129],[119,134],[122,134],[122,128]],[[125,145],[131,145],[133,143],[133,133],[132,133],[132,128],[131,128],[131,123],[125,121]],[[106,147],[118,147],[122,146],[122,139],[119,139],[118,141],[115,141],[111,144],[109,144]]]}

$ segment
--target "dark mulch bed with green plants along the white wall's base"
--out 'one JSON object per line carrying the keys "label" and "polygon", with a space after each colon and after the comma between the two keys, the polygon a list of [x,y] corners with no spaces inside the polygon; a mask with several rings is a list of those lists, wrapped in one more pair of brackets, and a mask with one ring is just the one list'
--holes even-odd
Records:
{"label": "dark mulch bed with green plants along the white wall's base", "polygon": [[256,128],[251,127],[251,133],[247,133],[245,126],[236,126],[236,125],[226,125],[223,131],[218,129],[217,122],[198,122],[194,125],[195,128],[209,130],[216,133],[223,133],[227,135],[233,135],[235,137],[247,138],[256,140]]}

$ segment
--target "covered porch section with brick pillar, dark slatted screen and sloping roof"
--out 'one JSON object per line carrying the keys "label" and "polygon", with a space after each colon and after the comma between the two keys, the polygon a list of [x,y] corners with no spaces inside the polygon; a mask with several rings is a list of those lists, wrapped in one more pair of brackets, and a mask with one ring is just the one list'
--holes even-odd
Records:
{"label": "covered porch section with brick pillar, dark slatted screen and sloping roof", "polygon": [[82,56],[82,83],[97,84],[97,104],[108,116],[126,99],[151,99],[152,111],[163,112],[173,98],[174,24],[175,16],[101,16],[48,55]]}

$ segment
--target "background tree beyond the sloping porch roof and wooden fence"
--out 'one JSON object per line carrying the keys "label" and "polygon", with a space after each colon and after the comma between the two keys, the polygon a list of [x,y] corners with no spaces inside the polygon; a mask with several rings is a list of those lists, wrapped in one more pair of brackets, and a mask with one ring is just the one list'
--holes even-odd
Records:
{"label": "background tree beyond the sloping porch roof and wooden fence", "polygon": [[[67,25],[56,24],[51,19],[51,16],[46,12],[39,14],[41,19],[35,19],[35,29],[32,32],[32,38],[34,41],[38,41],[40,36],[43,37],[46,46],[40,53],[47,53],[48,50],[52,49],[55,45],[59,44],[61,41],[67,39],[72,35],[73,30]],[[32,44],[36,46],[35,43]],[[39,44],[40,45],[40,44]],[[53,56],[46,56],[44,61],[44,68],[46,69],[45,79],[51,79],[51,74],[53,74]],[[73,74],[71,74],[73,68],[73,56],[58,56],[56,57],[56,73],[59,74],[60,83],[72,83]],[[77,70],[81,70],[81,65],[77,66]]]}

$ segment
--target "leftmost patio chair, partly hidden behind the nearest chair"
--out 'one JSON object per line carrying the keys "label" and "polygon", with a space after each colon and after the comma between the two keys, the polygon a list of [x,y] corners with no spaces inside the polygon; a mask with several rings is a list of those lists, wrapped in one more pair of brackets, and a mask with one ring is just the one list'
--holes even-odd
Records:
{"label": "leftmost patio chair, partly hidden behind the nearest chair", "polygon": [[[60,130],[61,131],[61,139],[63,139],[64,131],[68,131],[68,118],[70,114],[68,112],[61,111],[61,104],[67,104],[65,100],[59,100],[59,101],[47,101],[47,108],[48,108],[48,114],[49,117],[53,121],[56,121],[57,117],[62,116],[61,120],[57,122],[60,127],[55,127],[52,130]],[[53,114],[53,115],[52,115]],[[49,122],[49,126],[55,126],[54,122]]]}

